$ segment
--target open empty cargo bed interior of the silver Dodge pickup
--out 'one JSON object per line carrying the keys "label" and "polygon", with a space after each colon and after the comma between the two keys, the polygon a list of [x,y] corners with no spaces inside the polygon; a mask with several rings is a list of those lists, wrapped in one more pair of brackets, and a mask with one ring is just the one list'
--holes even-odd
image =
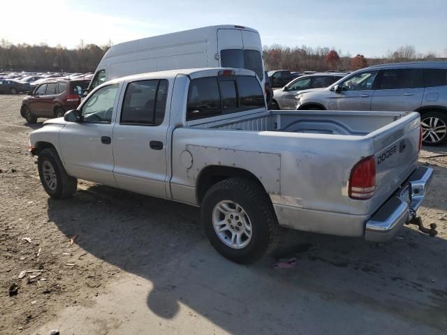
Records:
{"label": "open empty cargo bed interior of the silver Dodge pickup", "polygon": [[401,119],[406,112],[340,112],[340,111],[268,111],[244,114],[228,120],[191,121],[194,128],[233,129],[241,131],[279,131],[365,136]]}

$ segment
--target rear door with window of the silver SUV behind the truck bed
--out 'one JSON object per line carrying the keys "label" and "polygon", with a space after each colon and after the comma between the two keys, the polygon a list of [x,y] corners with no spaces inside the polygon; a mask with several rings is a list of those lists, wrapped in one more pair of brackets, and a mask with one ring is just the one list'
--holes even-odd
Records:
{"label": "rear door with window of the silver SUV behind the truck bed", "polygon": [[418,68],[381,70],[371,110],[413,112],[424,96],[423,71]]}

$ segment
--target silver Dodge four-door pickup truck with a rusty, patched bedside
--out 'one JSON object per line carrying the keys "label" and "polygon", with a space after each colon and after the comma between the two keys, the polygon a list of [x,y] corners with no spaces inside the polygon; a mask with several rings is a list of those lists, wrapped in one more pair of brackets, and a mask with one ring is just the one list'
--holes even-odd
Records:
{"label": "silver Dodge four-door pickup truck with a rusty, patched bedside", "polygon": [[268,111],[251,70],[132,75],[30,135],[52,198],[87,179],[202,209],[224,257],[254,262],[279,226],[386,241],[432,178],[416,112]]}

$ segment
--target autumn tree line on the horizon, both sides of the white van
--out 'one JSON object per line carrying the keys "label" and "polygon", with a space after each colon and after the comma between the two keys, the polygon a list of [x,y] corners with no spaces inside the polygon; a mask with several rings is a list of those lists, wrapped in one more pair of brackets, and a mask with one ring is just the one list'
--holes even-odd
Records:
{"label": "autumn tree line on the horizon, both sides of the white van", "polygon": [[[0,70],[32,72],[93,72],[112,42],[106,45],[87,44],[83,41],[74,49],[62,45],[50,47],[46,43],[14,45],[4,38],[0,40]],[[263,49],[267,70],[357,70],[375,64],[400,61],[434,60],[435,54],[418,54],[412,45],[404,45],[388,52],[381,58],[367,58],[362,54],[352,57],[335,47],[286,47],[265,46]]]}

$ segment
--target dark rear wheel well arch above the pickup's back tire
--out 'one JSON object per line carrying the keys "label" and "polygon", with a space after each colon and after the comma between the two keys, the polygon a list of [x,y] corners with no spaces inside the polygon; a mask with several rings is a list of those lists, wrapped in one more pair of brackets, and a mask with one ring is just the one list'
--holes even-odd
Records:
{"label": "dark rear wheel well arch above the pickup's back tire", "polygon": [[247,170],[232,168],[230,166],[209,165],[200,171],[200,174],[198,175],[196,184],[196,197],[198,204],[202,202],[203,197],[205,197],[205,193],[207,193],[211,186],[217,184],[219,181],[231,177],[241,177],[254,180],[265,190],[263,184],[261,184],[261,181],[259,181],[254,174]]}

